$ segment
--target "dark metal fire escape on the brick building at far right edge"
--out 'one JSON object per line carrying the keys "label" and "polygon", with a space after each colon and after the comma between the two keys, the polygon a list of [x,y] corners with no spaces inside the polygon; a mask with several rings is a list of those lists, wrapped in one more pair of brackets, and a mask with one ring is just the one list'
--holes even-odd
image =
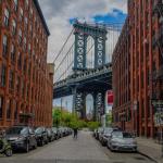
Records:
{"label": "dark metal fire escape on the brick building at far right edge", "polygon": [[153,47],[159,50],[159,70],[153,66],[152,99],[163,100],[163,0],[155,0],[153,14],[159,18],[159,29],[153,37]]}

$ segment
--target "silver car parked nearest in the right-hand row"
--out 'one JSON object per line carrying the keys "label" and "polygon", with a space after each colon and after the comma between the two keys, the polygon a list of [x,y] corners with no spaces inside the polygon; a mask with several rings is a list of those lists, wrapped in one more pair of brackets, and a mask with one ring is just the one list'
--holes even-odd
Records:
{"label": "silver car parked nearest in the right-hand row", "polygon": [[137,141],[127,131],[113,131],[106,146],[111,151],[137,151]]}

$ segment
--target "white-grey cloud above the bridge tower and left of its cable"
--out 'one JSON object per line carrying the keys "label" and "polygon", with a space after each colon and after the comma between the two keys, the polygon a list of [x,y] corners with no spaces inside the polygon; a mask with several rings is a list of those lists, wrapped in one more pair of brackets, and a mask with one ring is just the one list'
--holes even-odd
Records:
{"label": "white-grey cloud above the bridge tower and left of its cable", "polygon": [[48,46],[48,62],[52,62],[72,30],[71,17],[91,21],[97,14],[112,13],[113,9],[127,12],[127,0],[39,0],[51,36]]}

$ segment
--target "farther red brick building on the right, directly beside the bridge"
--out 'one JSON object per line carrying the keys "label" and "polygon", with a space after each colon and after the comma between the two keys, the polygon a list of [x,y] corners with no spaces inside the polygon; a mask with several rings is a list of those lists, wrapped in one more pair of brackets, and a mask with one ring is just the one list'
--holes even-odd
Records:
{"label": "farther red brick building on the right, directly beside the bridge", "polygon": [[114,123],[124,130],[131,129],[131,102],[130,102],[130,36],[129,23],[126,18],[122,34],[113,52],[113,92]]}

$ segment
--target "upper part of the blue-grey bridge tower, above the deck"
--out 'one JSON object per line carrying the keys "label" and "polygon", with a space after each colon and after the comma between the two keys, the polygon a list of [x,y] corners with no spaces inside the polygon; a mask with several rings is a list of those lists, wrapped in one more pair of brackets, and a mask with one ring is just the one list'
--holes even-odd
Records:
{"label": "upper part of the blue-grey bridge tower, above the deck", "polygon": [[105,64],[105,41],[106,28],[104,26],[93,26],[82,24],[76,21],[74,24],[75,52],[74,71],[86,70],[87,38],[91,36],[95,40],[95,68]]}

